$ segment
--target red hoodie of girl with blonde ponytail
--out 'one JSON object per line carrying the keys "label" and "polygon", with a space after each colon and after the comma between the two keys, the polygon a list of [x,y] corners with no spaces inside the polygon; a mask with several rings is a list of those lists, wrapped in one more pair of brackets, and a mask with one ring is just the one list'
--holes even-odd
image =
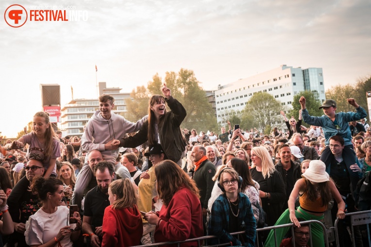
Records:
{"label": "red hoodie of girl with blonde ponytail", "polygon": [[103,216],[102,247],[128,247],[141,244],[143,234],[142,216],[133,208],[113,209],[106,207]]}

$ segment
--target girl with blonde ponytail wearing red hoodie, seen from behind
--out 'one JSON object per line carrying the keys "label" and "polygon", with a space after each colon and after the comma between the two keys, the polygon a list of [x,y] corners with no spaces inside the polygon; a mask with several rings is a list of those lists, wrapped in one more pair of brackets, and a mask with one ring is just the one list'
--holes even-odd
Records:
{"label": "girl with blonde ponytail wearing red hoodie, seen from behind", "polygon": [[131,181],[126,178],[112,182],[108,196],[111,205],[104,210],[102,247],[140,245],[143,223]]}

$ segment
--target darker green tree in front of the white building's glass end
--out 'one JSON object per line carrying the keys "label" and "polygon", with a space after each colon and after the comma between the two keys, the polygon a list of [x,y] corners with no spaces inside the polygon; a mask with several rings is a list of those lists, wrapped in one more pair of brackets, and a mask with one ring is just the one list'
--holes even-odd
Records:
{"label": "darker green tree in front of the white building's glass end", "polygon": [[[320,100],[317,100],[311,91],[301,91],[293,97],[292,109],[290,110],[289,114],[290,116],[286,114],[288,119],[290,119],[291,116],[294,116],[296,121],[299,119],[299,110],[302,108],[299,103],[299,99],[301,96],[304,96],[306,98],[306,109],[308,110],[309,115],[311,116],[323,115],[323,110],[318,109],[322,105],[322,102]],[[303,125],[306,125],[307,127],[309,126],[308,124],[305,124],[304,121]]]}

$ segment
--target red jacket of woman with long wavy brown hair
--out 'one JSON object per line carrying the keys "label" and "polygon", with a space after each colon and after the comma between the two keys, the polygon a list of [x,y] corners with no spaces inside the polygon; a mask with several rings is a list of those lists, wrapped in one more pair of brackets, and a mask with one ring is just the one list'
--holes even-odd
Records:
{"label": "red jacket of woman with long wavy brown hair", "polygon": [[[204,235],[200,199],[188,188],[179,188],[169,205],[167,207],[163,205],[157,213],[162,220],[159,227],[156,227],[156,243],[184,241]],[[197,246],[197,242],[188,242],[180,246]]]}

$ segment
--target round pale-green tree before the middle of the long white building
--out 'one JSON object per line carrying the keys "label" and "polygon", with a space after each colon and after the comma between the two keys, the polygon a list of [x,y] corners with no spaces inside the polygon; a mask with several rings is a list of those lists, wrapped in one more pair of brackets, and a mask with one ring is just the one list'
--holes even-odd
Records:
{"label": "round pale-green tree before the middle of the long white building", "polygon": [[[279,123],[282,126],[279,111],[282,109],[281,102],[269,93],[254,93],[243,109],[243,114],[254,120],[259,128],[265,133],[267,128]],[[269,125],[269,126],[268,126]]]}

